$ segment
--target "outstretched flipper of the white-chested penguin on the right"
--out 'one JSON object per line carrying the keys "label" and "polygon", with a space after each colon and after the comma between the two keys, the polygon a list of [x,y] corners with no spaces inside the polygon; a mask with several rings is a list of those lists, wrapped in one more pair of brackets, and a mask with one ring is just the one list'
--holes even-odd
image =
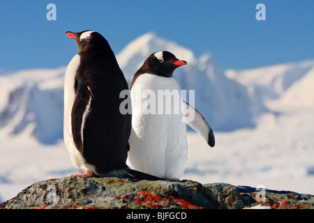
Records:
{"label": "outstretched flipper of the white-chested penguin on the right", "polygon": [[[184,108],[186,109],[186,116],[190,114],[190,112],[194,112],[194,118],[190,120],[190,118],[186,119],[186,123],[190,125],[193,130],[198,132],[206,141],[209,146],[215,146],[215,136],[214,132],[211,129],[211,125],[206,121],[204,116],[200,114],[193,106],[189,105],[188,102],[184,102]],[[193,110],[192,110],[193,109]]]}

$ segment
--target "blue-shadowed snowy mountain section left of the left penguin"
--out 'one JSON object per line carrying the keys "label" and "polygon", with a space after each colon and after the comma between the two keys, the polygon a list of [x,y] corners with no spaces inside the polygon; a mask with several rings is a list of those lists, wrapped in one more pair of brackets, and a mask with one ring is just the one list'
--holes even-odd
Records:
{"label": "blue-shadowed snowy mountain section left of the left penguin", "polygon": [[27,132],[43,144],[62,138],[65,70],[26,70],[0,76],[1,134]]}

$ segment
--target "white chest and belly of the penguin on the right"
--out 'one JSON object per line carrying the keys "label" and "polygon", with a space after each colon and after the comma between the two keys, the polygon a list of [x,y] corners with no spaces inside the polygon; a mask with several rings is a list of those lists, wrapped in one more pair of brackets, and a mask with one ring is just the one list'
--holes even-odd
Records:
{"label": "white chest and belly of the penguin on the right", "polygon": [[180,178],[188,146],[177,79],[140,75],[133,84],[131,99],[130,164],[154,176]]}

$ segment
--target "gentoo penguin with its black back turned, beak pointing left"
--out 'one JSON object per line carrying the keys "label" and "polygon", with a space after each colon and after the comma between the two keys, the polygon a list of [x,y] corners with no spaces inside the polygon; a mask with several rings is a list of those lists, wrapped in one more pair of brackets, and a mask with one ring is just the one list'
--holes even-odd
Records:
{"label": "gentoo penguin with its black back turned, beak pointing left", "polygon": [[71,161],[84,171],[73,176],[133,178],[137,171],[126,164],[132,115],[119,111],[124,100],[119,94],[128,91],[124,74],[100,33],[68,31],[66,35],[78,47],[64,82],[63,137]]}

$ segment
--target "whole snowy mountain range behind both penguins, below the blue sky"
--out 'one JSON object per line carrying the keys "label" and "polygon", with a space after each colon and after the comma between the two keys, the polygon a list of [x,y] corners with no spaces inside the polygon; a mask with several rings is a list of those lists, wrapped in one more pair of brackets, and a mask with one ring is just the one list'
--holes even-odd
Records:
{"label": "whole snowy mountain range behind both penguins, below the blue sky", "polygon": [[[252,128],[260,114],[278,105],[278,100],[287,105],[313,105],[310,85],[314,61],[224,72],[210,54],[196,58],[190,49],[154,33],[140,36],[117,54],[129,84],[144,60],[159,50],[170,51],[188,62],[175,70],[174,76],[181,89],[195,90],[195,107],[216,132]],[[65,70],[62,67],[0,75],[0,133],[27,132],[43,144],[62,139]]]}

